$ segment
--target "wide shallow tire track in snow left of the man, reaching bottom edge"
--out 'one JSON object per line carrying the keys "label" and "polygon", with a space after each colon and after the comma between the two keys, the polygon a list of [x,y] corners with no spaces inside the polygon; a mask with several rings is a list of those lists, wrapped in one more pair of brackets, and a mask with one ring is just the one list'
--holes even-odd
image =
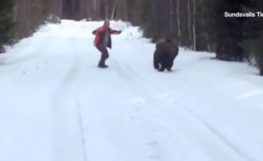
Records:
{"label": "wide shallow tire track in snow left of the man, reaching bottom edge", "polygon": [[[75,86],[75,81],[78,78],[78,58],[75,48],[75,39],[69,39],[69,44],[71,44],[72,46],[72,51],[70,51],[71,55],[65,56],[69,57],[70,60],[69,63],[65,63],[66,67],[69,68],[69,70],[67,70],[64,78],[62,79],[60,87],[57,89],[57,97],[55,98],[56,101],[54,104],[54,117],[56,118],[56,122],[58,122],[56,123],[57,126],[55,126],[55,128],[59,129],[59,140],[61,140],[62,142],[71,142],[71,144],[73,145],[69,146],[68,144],[66,144],[67,149],[62,147],[63,145],[55,146],[58,146],[58,149],[56,150],[57,153],[61,153],[63,151],[62,153],[68,155],[68,158],[62,155],[57,156],[57,158],[64,158],[62,160],[69,161],[71,159],[87,161],[87,153],[85,151],[86,140],[84,138],[84,126],[82,122],[81,106],[78,100],[78,92]],[[67,53],[70,52],[68,51]],[[62,131],[64,132],[62,133]],[[62,137],[62,135],[66,136]],[[61,142],[58,142],[58,144],[61,144]],[[80,147],[78,148],[78,146]],[[72,149],[72,147],[75,147],[75,149]],[[79,152],[78,149],[80,150]],[[75,158],[73,157],[73,155],[75,155]],[[60,160],[57,158],[55,160]]]}

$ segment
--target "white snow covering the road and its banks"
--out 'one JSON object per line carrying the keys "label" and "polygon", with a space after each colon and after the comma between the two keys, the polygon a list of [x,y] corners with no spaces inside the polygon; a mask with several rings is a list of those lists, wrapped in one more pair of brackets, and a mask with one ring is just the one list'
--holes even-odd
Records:
{"label": "white snow covering the road and its banks", "polygon": [[101,25],[48,24],[0,55],[0,160],[263,160],[255,68],[180,48],[159,73],[154,44],[112,21],[123,32],[100,69]]}

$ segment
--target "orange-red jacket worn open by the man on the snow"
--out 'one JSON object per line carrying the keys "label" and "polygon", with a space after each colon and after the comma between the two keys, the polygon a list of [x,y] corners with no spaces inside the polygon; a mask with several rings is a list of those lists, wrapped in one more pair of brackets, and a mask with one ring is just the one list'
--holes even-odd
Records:
{"label": "orange-red jacket worn open by the man on the snow", "polygon": [[107,44],[108,48],[111,48],[111,34],[117,35],[120,34],[120,30],[112,30],[111,28],[104,28],[103,26],[93,30],[92,34],[96,35],[95,39],[94,39],[94,46],[98,47],[103,43],[103,40],[105,39],[105,33],[109,32],[109,41]]}

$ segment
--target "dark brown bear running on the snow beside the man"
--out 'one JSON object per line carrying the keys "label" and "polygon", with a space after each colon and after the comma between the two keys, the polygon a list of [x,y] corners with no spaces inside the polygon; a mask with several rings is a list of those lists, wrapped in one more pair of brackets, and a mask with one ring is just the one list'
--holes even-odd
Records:
{"label": "dark brown bear running on the snow beside the man", "polygon": [[[174,59],[179,53],[179,46],[174,39],[162,39],[156,43],[154,68],[159,71],[171,71]],[[161,65],[161,66],[160,66]]]}

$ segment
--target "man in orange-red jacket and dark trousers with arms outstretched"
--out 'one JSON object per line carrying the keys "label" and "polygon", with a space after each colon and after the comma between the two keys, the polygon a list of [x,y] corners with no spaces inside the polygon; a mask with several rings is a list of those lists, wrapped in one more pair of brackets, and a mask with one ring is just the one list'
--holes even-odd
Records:
{"label": "man in orange-red jacket and dark trousers with arms outstretched", "polygon": [[98,48],[101,53],[101,58],[98,64],[100,68],[107,68],[108,66],[105,64],[106,59],[109,57],[109,53],[107,50],[111,48],[111,34],[117,35],[120,34],[120,30],[112,30],[109,28],[109,20],[104,21],[104,25],[96,30],[93,30],[92,34],[96,35],[94,40],[94,46]]}

